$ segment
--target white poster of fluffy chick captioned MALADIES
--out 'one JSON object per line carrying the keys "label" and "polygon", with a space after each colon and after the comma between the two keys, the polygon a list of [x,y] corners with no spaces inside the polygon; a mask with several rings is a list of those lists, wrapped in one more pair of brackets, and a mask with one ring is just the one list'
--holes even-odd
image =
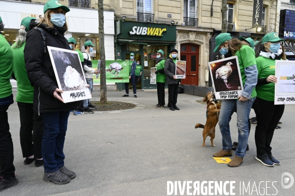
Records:
{"label": "white poster of fluffy chick captioned MALADIES", "polygon": [[78,52],[48,46],[52,67],[65,103],[90,99]]}

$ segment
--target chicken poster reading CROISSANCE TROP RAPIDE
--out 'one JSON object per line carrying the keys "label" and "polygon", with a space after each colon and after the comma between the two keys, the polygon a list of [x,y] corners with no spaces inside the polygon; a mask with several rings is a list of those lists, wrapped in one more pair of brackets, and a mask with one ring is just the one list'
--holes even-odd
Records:
{"label": "chicken poster reading CROISSANCE TROP RAPIDE", "polygon": [[237,99],[243,92],[243,82],[237,56],[209,62],[216,99]]}

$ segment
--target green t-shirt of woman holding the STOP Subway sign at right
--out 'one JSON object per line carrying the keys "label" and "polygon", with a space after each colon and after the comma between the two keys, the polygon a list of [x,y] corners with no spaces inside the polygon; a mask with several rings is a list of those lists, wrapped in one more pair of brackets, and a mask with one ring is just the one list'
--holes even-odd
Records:
{"label": "green t-shirt of woman holding the STOP Subway sign at right", "polygon": [[[275,75],[275,60],[259,56],[256,58],[258,79]],[[274,101],[274,83],[256,86],[257,97],[266,101]]]}

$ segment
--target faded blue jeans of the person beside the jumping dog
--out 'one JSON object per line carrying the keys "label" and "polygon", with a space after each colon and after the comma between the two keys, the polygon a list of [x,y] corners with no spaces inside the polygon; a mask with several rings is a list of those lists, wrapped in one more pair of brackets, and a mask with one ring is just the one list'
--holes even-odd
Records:
{"label": "faded blue jeans of the person beside the jumping dog", "polygon": [[252,104],[255,98],[247,101],[239,101],[236,99],[226,99],[222,101],[221,110],[219,114],[219,129],[222,135],[223,150],[229,151],[232,148],[230,137],[229,122],[232,113],[236,110],[237,128],[238,128],[238,142],[239,145],[235,151],[237,157],[244,157],[246,155],[246,148],[249,137],[248,119]]}

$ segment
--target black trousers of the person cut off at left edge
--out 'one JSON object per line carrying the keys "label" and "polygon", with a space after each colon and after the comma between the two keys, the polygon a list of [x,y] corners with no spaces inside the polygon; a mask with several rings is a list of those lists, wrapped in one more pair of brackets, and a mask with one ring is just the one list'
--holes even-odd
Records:
{"label": "black trousers of the person cut off at left edge", "polygon": [[9,132],[8,110],[9,105],[0,106],[0,176],[11,178],[14,176],[13,142]]}

